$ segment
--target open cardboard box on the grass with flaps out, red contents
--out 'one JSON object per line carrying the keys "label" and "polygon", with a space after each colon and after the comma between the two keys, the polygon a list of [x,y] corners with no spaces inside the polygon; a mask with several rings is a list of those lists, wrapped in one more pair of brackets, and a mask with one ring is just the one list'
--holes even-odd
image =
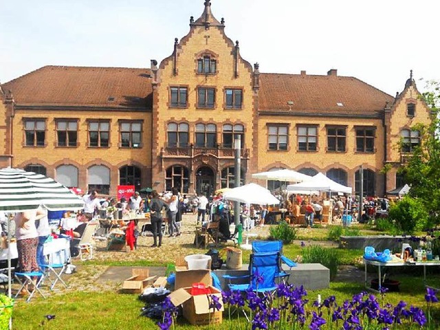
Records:
{"label": "open cardboard box on the grass with flaps out, red contents", "polygon": [[[190,322],[191,325],[208,325],[220,324],[223,321],[223,300],[221,298],[221,291],[215,287],[209,286],[210,294],[201,294],[198,296],[191,296],[190,287],[183,287],[170,294],[170,300],[175,306],[183,305],[184,318]],[[210,299],[208,296],[217,296],[221,309],[213,311],[209,308]]]}

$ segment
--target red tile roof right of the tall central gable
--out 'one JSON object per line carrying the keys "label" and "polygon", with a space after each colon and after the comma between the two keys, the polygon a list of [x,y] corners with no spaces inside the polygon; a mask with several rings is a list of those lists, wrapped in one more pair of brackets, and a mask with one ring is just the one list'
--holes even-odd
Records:
{"label": "red tile roof right of the tall central gable", "polygon": [[[353,77],[261,74],[259,110],[277,113],[377,115],[394,98]],[[292,101],[292,104],[287,102]],[[342,104],[342,106],[338,106]]]}

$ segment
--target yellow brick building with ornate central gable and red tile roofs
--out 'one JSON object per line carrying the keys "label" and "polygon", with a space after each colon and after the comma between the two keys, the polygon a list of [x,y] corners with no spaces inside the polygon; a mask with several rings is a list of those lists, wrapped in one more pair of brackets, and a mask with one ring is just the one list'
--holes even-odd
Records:
{"label": "yellow brick building with ornate central gable and red tile roofs", "polygon": [[5,83],[1,166],[111,195],[118,184],[210,193],[233,186],[240,135],[243,181],[292,168],[359,191],[362,165],[368,195],[401,184],[396,170],[419,143],[411,127],[430,120],[412,74],[395,97],[336,69],[265,74],[224,28],[206,0],[173,54],[148,69],[48,66]]}

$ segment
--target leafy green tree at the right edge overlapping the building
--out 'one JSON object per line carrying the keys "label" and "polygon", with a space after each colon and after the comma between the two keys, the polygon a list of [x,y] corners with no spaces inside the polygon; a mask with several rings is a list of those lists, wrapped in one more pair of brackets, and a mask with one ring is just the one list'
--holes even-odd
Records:
{"label": "leafy green tree at the right edge overlapping the building", "polygon": [[432,110],[432,122],[416,124],[412,129],[420,132],[421,143],[408,162],[400,168],[406,183],[410,185],[410,197],[417,197],[435,224],[440,223],[440,83],[428,83],[428,91],[421,98]]}

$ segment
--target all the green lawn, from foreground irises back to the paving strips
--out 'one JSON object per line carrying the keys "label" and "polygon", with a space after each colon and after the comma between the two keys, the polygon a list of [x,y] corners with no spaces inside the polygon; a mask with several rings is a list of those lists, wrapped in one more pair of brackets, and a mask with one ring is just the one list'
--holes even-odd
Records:
{"label": "all the green lawn, from foreground irises back to the paving strips", "polygon": [[[361,228],[362,234],[371,234],[371,230]],[[328,228],[314,228],[307,230],[301,228],[297,232],[297,239],[303,241],[306,246],[314,244],[322,244],[329,234]],[[302,254],[302,247],[300,241],[294,244],[284,246],[284,254],[291,259],[297,259]],[[324,247],[331,247],[330,243],[322,245]],[[334,245],[333,245],[334,246]],[[331,247],[336,251],[341,265],[355,265],[362,267],[361,250],[347,250]],[[201,253],[202,250],[197,250],[192,247],[185,247],[186,252]],[[203,250],[204,253],[204,250]],[[243,263],[248,263],[250,251],[243,251]],[[170,256],[158,261],[146,261],[137,259],[135,261],[109,261],[94,259],[83,264],[83,267],[88,267],[93,273],[94,267],[102,267],[108,265],[124,265],[124,266],[155,266],[168,265],[173,263]],[[400,268],[400,267],[399,267]],[[429,267],[428,267],[429,268]],[[87,274],[87,272],[85,272]],[[86,276],[87,277],[87,276]],[[440,287],[440,274],[428,274],[429,284],[434,287]],[[417,307],[426,307],[424,301],[424,294],[426,290],[423,286],[421,269],[416,272],[412,270],[399,270],[394,272],[393,279],[401,281],[400,292],[386,294],[386,302],[394,305],[400,300],[405,300],[408,304],[416,305]],[[84,278],[87,281],[87,278]],[[94,287],[92,281],[89,280],[89,287]],[[309,292],[309,300],[316,300],[318,294],[322,299],[327,296],[336,296],[337,302],[342,303],[346,299],[351,299],[354,294],[358,294],[365,290],[364,283],[358,282],[332,282],[329,289],[322,289]],[[440,296],[440,294],[438,295]],[[439,297],[440,298],[440,297]],[[150,320],[140,316],[140,309],[144,304],[137,299],[137,295],[121,294],[117,290],[91,292],[89,289],[77,290],[76,292],[67,292],[65,294],[53,294],[48,296],[46,300],[41,298],[32,299],[31,303],[25,303],[23,300],[18,300],[14,306],[13,325],[14,329],[158,329],[155,323],[157,320]],[[440,320],[440,304],[434,305],[434,319]],[[42,322],[46,315],[55,315],[56,318],[50,322]],[[225,317],[227,313],[224,314]],[[179,318],[177,322],[177,329],[195,329],[188,323]],[[438,325],[440,328],[440,325]],[[208,327],[201,327],[197,329],[208,329]],[[223,325],[216,326],[215,329],[229,329],[228,322],[224,320]],[[234,329],[234,327],[232,327]]]}

